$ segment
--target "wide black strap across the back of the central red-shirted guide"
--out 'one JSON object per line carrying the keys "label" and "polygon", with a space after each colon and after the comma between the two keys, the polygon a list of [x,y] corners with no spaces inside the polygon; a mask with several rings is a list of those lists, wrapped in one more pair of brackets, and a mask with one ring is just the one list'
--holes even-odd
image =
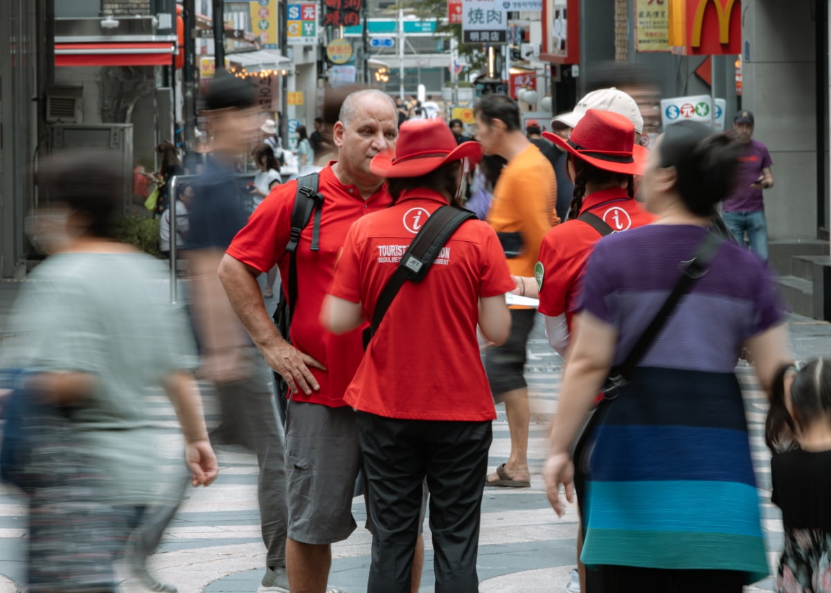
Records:
{"label": "wide black strap across the back of the central red-shirted guide", "polygon": [[456,208],[455,206],[441,206],[430,215],[424,226],[418,231],[412,243],[407,247],[406,252],[398,262],[396,271],[384,284],[375,311],[372,312],[372,323],[364,330],[364,349],[369,345],[372,336],[378,331],[381,320],[384,319],[386,309],[390,308],[396,294],[401,290],[406,280],[420,282],[424,279],[430,265],[433,264],[442,247],[445,246],[450,235],[465,222],[476,218],[470,210]]}

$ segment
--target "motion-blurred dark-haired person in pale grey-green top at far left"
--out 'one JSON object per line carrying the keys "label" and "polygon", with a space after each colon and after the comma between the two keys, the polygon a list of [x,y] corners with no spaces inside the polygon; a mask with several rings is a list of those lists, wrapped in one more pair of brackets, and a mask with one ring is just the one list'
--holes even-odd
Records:
{"label": "motion-blurred dark-haired person in pale grey-green top at far left", "polygon": [[8,344],[15,366],[34,373],[30,397],[56,410],[27,467],[33,593],[116,591],[113,562],[170,488],[165,432],[148,413],[159,388],[179,418],[192,483],[208,486],[218,472],[192,334],[159,289],[165,267],[111,239],[122,176],[110,152],[74,151],[40,166],[50,201],[32,228],[50,256],[17,298]]}

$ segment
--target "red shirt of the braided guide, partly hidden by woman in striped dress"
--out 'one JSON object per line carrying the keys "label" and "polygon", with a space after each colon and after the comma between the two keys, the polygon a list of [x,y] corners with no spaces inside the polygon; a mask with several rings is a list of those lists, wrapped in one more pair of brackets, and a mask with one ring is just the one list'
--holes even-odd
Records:
{"label": "red shirt of the braided guide, partly hidden by woman in striped dress", "polygon": [[[596,191],[583,198],[583,212],[599,216],[613,232],[648,225],[654,217],[622,188]],[[583,271],[600,233],[583,220],[567,220],[549,230],[539,248],[534,273],[539,287],[539,312],[549,317],[567,314],[571,329],[572,311],[583,286]]]}

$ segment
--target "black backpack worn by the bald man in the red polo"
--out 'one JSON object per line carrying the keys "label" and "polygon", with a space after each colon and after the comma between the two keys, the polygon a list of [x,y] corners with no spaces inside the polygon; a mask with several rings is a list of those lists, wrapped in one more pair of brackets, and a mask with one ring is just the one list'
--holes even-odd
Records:
{"label": "black backpack worn by the bald man in the red polo", "polygon": [[[320,175],[311,173],[297,177],[297,193],[294,195],[292,207],[292,232],[288,238],[286,251],[290,254],[288,262],[288,278],[283,278],[286,289],[280,290],[280,299],[277,309],[274,309],[274,325],[277,326],[280,335],[287,342],[291,342],[289,331],[292,327],[292,316],[294,305],[297,304],[297,243],[300,240],[300,233],[306,228],[309,220],[314,215],[314,226],[312,228],[312,251],[320,250],[320,216],[323,210],[323,195],[317,191]],[[288,292],[288,299],[286,293]],[[285,423],[286,419],[286,398],[288,398],[288,384],[279,373],[274,373],[274,382],[277,385],[277,403],[280,419]]]}

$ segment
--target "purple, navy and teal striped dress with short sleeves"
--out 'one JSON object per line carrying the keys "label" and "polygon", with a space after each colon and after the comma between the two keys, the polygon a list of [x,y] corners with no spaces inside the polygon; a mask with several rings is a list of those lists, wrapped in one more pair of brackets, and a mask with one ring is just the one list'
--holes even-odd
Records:
{"label": "purple, navy and teal striped dress with short sleeves", "polygon": [[[602,239],[589,259],[584,309],[617,329],[622,363],[704,237],[649,225]],[[632,382],[607,406],[588,460],[588,566],[768,575],[745,411],[740,344],[782,314],[765,265],[721,245],[681,299]]]}

